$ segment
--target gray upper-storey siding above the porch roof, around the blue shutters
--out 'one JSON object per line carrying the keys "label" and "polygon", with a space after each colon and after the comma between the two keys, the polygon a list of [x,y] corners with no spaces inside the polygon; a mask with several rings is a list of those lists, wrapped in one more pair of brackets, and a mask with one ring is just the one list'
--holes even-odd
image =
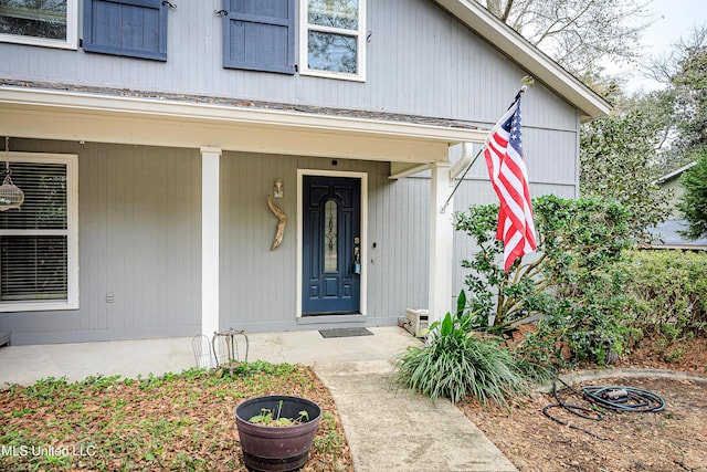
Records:
{"label": "gray upper-storey siding above the porch roof, around the blue shutters", "polygon": [[[506,109],[519,78],[526,75],[430,0],[369,0],[367,13],[371,34],[366,83],[224,69],[222,19],[214,14],[213,2],[204,1],[183,1],[169,11],[167,62],[0,43],[0,77],[336,106],[488,125]],[[574,129],[574,109],[541,84],[527,95],[527,124]]]}

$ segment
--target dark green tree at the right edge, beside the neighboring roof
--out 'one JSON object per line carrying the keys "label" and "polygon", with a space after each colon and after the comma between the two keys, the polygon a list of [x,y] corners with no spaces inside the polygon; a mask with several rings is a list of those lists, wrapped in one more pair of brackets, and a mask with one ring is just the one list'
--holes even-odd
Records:
{"label": "dark green tree at the right edge, beside the neighboring roof", "polygon": [[689,239],[707,237],[707,151],[703,151],[696,166],[683,174],[685,188],[677,208],[683,212],[689,228],[684,235]]}

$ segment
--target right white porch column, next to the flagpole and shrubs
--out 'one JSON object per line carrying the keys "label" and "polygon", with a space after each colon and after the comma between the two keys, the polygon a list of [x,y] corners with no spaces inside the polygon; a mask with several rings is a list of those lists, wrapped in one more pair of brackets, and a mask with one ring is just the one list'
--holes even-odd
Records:
{"label": "right white porch column, next to the flagpole and shrubs", "polygon": [[450,201],[444,213],[442,207],[452,195],[454,180],[451,179],[450,162],[432,164],[432,191],[430,195],[430,324],[442,321],[452,311],[452,256],[453,256],[453,209]]}

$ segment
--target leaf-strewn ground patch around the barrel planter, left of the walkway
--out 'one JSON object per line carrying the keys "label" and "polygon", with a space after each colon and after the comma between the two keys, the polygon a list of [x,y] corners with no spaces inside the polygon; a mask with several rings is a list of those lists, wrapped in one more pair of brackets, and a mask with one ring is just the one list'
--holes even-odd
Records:
{"label": "leaf-strewn ground patch around the barrel planter, left of the walkway", "polygon": [[92,454],[3,453],[0,470],[245,471],[234,409],[258,395],[297,395],[317,402],[327,421],[304,470],[352,470],[334,400],[313,369],[303,366],[233,378],[192,370],[165,379],[46,380],[14,387],[0,392],[0,445],[6,452],[10,445],[67,451],[81,445]]}

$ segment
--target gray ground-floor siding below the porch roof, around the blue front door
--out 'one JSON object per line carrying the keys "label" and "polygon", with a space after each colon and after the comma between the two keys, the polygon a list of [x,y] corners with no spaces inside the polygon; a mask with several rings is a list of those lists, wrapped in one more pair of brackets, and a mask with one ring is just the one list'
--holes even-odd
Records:
{"label": "gray ground-floor siding below the porch roof, around the blue front door", "polygon": [[[38,140],[14,145],[23,151],[78,155],[81,295],[77,311],[3,313],[0,329],[13,332],[15,344],[199,333],[198,150]],[[368,304],[362,323],[394,325],[407,307],[426,307],[430,180],[391,180],[389,166],[344,159],[334,166],[325,158],[224,153],[221,328],[305,328],[295,317],[297,169],[368,175],[368,233],[363,237]],[[481,158],[460,186],[455,211],[496,201],[485,171]],[[288,224],[282,245],[271,251],[276,219],[266,196],[278,178],[285,183],[285,196],[276,203],[288,216]],[[562,181],[531,183],[531,192],[570,198],[576,188]],[[465,272],[458,263],[474,251],[461,233],[454,244],[451,298],[463,287]],[[108,294],[113,302],[107,302]]]}

